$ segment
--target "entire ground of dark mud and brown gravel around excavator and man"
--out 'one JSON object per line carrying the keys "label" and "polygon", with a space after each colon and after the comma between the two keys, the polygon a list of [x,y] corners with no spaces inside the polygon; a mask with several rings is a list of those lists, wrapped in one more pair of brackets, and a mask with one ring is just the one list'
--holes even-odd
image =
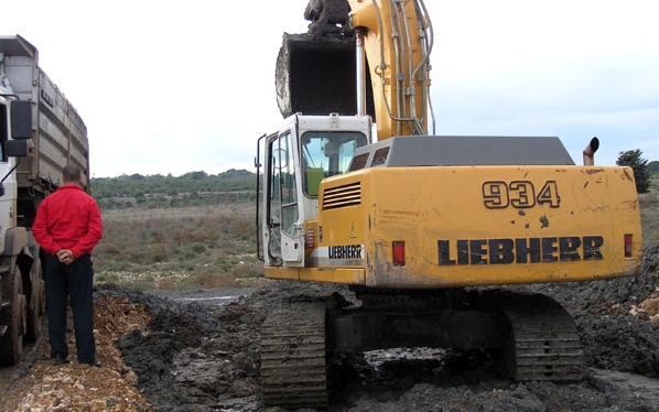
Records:
{"label": "entire ground of dark mud and brown gravel around excavator and man", "polygon": [[[532,288],[576,319],[583,382],[515,383],[482,351],[375,351],[352,359],[330,411],[659,411],[658,271],[659,246],[646,250],[637,278]],[[186,293],[98,290],[102,367],[54,366],[42,339],[20,366],[0,370],[0,410],[262,411],[263,319],[282,300],[334,290],[283,281]]]}

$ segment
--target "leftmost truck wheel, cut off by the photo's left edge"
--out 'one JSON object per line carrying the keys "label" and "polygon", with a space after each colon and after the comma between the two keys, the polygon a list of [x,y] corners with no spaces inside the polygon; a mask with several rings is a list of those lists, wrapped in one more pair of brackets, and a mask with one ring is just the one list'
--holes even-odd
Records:
{"label": "leftmost truck wheel, cut off by the photo's left edge", "polygon": [[2,277],[2,296],[11,296],[11,304],[0,314],[0,324],[8,326],[4,336],[0,338],[0,365],[17,365],[23,353],[26,307],[21,285],[21,271],[14,265],[11,275],[8,273]]}

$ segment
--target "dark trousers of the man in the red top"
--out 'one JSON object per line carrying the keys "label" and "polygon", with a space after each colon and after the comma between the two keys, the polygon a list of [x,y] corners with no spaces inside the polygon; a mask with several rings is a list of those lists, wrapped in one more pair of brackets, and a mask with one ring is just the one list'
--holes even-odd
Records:
{"label": "dark trousers of the man in the red top", "polygon": [[96,343],[94,341],[94,271],[89,254],[83,254],[69,265],[61,263],[56,256],[46,256],[45,273],[51,357],[68,356],[66,304],[71,297],[78,362],[93,362],[96,359]]}

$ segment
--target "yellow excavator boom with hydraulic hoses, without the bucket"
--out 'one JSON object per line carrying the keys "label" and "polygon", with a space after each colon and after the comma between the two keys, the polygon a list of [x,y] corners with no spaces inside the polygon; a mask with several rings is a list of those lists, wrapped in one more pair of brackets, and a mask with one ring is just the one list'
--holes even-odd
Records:
{"label": "yellow excavator boom with hydraulic hoses, without the bucket", "polygon": [[[358,72],[366,67],[359,63],[363,51],[368,59],[379,140],[428,134],[432,25],[423,1],[348,0],[348,3]],[[357,95],[366,98],[366,89],[360,86],[366,77],[361,73],[357,76]],[[365,102],[359,107],[365,107]]]}

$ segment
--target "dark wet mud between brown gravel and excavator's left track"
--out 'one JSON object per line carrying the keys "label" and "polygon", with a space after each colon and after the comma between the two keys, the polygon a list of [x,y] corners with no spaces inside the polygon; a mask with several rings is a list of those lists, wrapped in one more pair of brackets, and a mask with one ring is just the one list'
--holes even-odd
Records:
{"label": "dark wet mud between brown gravel and excavator's left track", "polygon": [[330,293],[300,286],[277,282],[228,304],[217,303],[226,290],[199,291],[206,297],[184,301],[132,293],[154,319],[118,345],[159,411],[259,410],[260,327],[267,314],[287,296]]}

